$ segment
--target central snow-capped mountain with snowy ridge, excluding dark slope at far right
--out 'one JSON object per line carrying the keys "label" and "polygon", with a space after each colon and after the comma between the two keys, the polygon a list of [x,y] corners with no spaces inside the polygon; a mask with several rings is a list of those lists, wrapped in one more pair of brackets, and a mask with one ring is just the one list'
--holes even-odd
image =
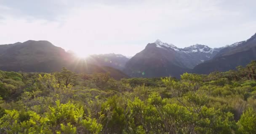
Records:
{"label": "central snow-capped mountain with snowy ridge, excluding dark slope at far right", "polygon": [[200,44],[181,49],[156,40],[133,56],[125,64],[124,72],[131,77],[179,77],[197,64],[213,58],[218,52]]}

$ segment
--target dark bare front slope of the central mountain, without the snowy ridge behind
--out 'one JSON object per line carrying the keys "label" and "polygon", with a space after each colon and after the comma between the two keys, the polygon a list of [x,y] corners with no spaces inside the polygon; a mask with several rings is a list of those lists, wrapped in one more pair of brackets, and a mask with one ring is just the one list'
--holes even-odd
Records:
{"label": "dark bare front slope of the central mountain, without the snowy ridge behind", "polygon": [[[174,50],[173,50],[174,51]],[[179,75],[186,70],[175,61],[175,53],[148,44],[125,65],[125,72],[131,77],[163,77]]]}

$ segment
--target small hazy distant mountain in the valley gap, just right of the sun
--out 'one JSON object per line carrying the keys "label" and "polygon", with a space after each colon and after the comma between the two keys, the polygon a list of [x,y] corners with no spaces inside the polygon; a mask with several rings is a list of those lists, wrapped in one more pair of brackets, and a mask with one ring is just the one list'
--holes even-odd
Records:
{"label": "small hazy distant mountain in the valley gap, just right of the sun", "polygon": [[113,67],[123,70],[128,58],[122,54],[94,54],[86,58],[86,61],[99,66]]}

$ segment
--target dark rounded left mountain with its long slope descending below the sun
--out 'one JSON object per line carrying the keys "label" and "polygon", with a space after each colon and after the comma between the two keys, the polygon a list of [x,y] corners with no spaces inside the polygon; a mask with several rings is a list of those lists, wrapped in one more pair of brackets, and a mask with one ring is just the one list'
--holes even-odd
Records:
{"label": "dark rounded left mountain with its long slope descending below the sun", "polygon": [[112,77],[128,77],[120,70],[78,59],[49,41],[25,41],[0,45],[0,70],[24,72],[57,72],[62,67],[74,72],[110,72]]}

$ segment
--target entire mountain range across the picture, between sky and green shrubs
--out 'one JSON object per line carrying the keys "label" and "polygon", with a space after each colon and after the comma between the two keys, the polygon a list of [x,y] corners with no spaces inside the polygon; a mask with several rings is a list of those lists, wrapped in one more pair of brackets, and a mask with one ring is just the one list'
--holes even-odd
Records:
{"label": "entire mountain range across the picture, between sky and green shrubs", "polygon": [[[94,54],[80,59],[49,41],[0,45],[0,70],[56,72],[62,67],[75,72],[110,72],[112,77],[179,77],[184,72],[209,74],[228,71],[256,60],[256,34],[246,41],[221,48],[195,44],[178,48],[156,40],[133,57]],[[126,75],[127,74],[127,75]]]}

